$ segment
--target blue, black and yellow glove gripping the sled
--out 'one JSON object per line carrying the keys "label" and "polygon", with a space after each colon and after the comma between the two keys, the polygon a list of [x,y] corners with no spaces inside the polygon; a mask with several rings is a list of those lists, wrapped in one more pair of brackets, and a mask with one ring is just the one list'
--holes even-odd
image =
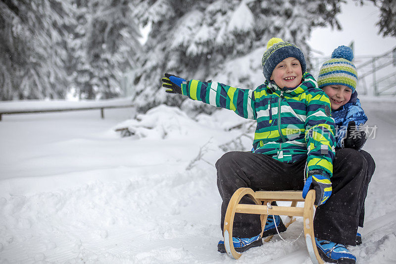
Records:
{"label": "blue, black and yellow glove gripping the sled", "polygon": [[306,179],[304,189],[302,189],[302,198],[305,199],[310,189],[314,189],[316,193],[315,206],[320,206],[326,203],[333,190],[330,179],[319,174],[309,176]]}

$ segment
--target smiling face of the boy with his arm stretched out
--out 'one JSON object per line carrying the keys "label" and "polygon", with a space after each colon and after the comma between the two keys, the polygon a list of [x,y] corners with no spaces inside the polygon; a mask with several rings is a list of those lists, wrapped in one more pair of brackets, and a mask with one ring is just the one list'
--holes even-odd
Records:
{"label": "smiling face of the boy with his arm stretched out", "polygon": [[293,88],[301,83],[302,70],[300,61],[295,57],[288,57],[276,65],[271,75],[279,88]]}

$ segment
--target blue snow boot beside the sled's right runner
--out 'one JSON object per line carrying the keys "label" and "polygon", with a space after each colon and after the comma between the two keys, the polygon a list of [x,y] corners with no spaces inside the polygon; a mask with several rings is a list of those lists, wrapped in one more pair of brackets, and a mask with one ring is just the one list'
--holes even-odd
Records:
{"label": "blue snow boot beside the sled's right runner", "polygon": [[343,245],[315,237],[316,247],[320,257],[325,262],[337,264],[355,264],[356,257]]}

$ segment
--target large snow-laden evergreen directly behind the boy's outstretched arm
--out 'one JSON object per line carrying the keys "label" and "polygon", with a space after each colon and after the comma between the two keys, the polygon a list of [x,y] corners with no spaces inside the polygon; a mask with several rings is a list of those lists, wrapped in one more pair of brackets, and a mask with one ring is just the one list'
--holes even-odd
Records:
{"label": "large snow-laden evergreen directly behind the boy's outstretched arm", "polygon": [[[160,88],[164,72],[207,80],[224,62],[251,53],[271,37],[306,44],[314,27],[336,20],[340,0],[141,0],[135,15],[151,32],[132,72],[131,89],[142,111],[166,102],[181,106],[182,96],[167,96]],[[261,58],[257,58],[260,64]],[[308,65],[310,65],[308,63]],[[247,83],[248,84],[248,81]],[[206,106],[199,106],[206,109]]]}

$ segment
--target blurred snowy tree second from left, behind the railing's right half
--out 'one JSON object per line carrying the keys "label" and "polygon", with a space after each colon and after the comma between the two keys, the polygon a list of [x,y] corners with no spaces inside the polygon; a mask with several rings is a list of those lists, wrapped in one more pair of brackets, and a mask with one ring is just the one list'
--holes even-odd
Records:
{"label": "blurred snowy tree second from left, behind the railing's right half", "polygon": [[72,0],[75,30],[69,70],[80,98],[119,96],[121,75],[141,50],[139,29],[128,0]]}

